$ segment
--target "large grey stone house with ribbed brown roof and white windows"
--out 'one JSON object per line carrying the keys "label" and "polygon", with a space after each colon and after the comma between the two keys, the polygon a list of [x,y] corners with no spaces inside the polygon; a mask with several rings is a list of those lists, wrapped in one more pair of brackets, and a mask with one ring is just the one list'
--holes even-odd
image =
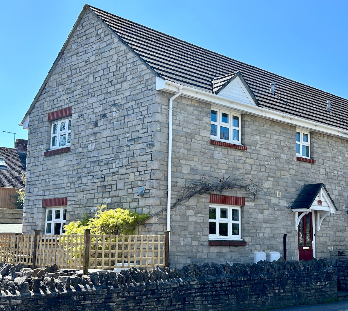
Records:
{"label": "large grey stone house with ribbed brown roof and white windows", "polygon": [[[23,232],[149,212],[170,265],[342,257],[348,101],[86,5],[22,124]],[[169,197],[169,199],[168,199]],[[275,255],[277,256],[277,254]]]}

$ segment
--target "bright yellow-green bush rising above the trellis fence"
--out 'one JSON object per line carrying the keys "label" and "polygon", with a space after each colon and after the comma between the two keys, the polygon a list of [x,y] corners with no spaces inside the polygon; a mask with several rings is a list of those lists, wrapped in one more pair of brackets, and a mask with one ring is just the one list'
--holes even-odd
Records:
{"label": "bright yellow-green bush rising above the trellis fence", "polygon": [[105,207],[97,206],[97,213],[88,222],[85,215],[82,221],[65,225],[65,234],[83,234],[85,229],[90,229],[92,234],[134,234],[135,226],[149,217],[122,208],[103,210]]}

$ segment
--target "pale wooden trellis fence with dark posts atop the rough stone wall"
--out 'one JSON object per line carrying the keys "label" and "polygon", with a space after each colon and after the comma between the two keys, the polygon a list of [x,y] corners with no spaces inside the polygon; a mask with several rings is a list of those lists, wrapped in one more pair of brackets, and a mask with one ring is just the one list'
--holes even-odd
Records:
{"label": "pale wooden trellis fence with dark posts atop the rough stone wall", "polygon": [[[37,268],[56,264],[63,269],[146,268],[168,266],[169,236],[63,234],[0,235],[0,261]],[[87,258],[88,260],[85,260]]]}

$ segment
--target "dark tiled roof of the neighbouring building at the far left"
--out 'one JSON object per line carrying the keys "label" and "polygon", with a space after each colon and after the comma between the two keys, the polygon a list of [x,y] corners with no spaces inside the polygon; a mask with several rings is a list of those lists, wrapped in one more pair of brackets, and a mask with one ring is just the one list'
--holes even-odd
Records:
{"label": "dark tiled roof of the neighbouring building at the far left", "polygon": [[0,169],[0,187],[24,188],[22,173],[25,175],[26,152],[0,147],[0,158],[7,165],[7,169]]}

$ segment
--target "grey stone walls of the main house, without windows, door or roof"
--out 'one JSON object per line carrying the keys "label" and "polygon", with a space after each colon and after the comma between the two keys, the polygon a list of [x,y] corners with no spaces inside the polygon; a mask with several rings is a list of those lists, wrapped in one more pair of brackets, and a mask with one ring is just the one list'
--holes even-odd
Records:
{"label": "grey stone walls of the main house, without windows, door or roof", "polygon": [[[140,225],[137,233],[164,234],[172,95],[156,91],[156,75],[85,10],[29,115],[23,233],[44,231],[43,200],[66,198],[67,222],[93,215],[102,204],[151,215],[162,210]],[[64,153],[49,153],[48,115],[70,107],[71,146]],[[223,192],[245,198],[238,245],[209,245],[208,195],[175,206],[170,266],[252,263],[254,253],[261,251],[269,260],[270,252],[284,255],[284,234],[287,259],[297,260],[295,213],[286,205],[292,204],[303,185],[314,183],[325,184],[338,208],[324,219],[320,231],[314,230],[315,256],[336,261],[348,239],[347,142],[312,131],[315,163],[298,161],[295,126],[244,113],[242,144],[247,149],[214,145],[211,107],[183,96],[173,102],[172,204],[185,185],[203,176],[244,178],[257,185],[258,196],[254,200],[241,190]],[[137,196],[139,186],[146,186],[142,197]]]}

